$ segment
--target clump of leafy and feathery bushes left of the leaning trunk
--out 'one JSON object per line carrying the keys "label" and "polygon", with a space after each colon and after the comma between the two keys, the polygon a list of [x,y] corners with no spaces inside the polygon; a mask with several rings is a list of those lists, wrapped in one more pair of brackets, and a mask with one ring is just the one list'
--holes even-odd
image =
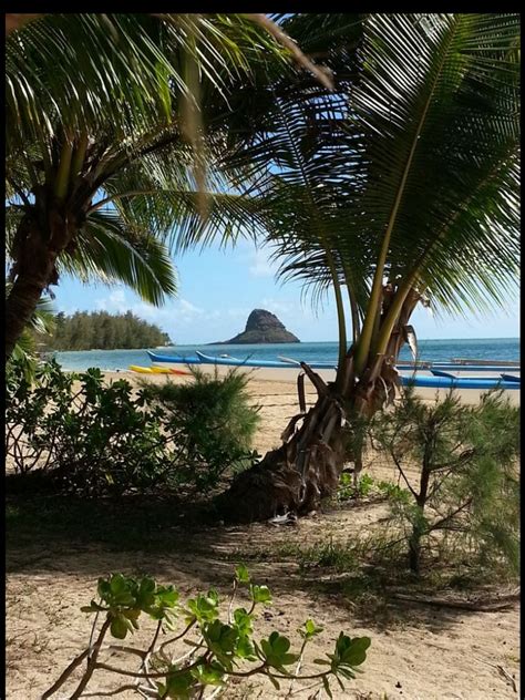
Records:
{"label": "clump of leafy and feathery bushes left of the leaning trunk", "polygon": [[125,379],[105,384],[97,369],[66,373],[55,361],[38,368],[32,384],[13,361],[6,451],[19,473],[43,470],[70,493],[207,491],[254,459],[258,415],[246,382],[198,374],[187,385],[150,385],[135,395]]}

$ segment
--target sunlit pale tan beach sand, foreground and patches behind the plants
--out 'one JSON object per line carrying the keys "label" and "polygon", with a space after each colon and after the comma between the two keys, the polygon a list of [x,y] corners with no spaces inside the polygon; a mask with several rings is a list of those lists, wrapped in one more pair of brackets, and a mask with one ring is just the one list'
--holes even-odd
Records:
{"label": "sunlit pale tan beach sand, foreground and patches behind the plants", "polygon": [[[123,379],[136,385],[138,375],[127,372],[106,373],[107,379]],[[142,377],[141,380],[144,380]],[[165,382],[164,375],[148,375],[147,381]],[[187,381],[176,378],[174,381]],[[249,384],[254,402],[260,405],[261,424],[254,447],[260,453],[280,442],[289,418],[298,412],[297,390],[292,382],[261,381]],[[307,398],[315,401],[313,388]],[[367,465],[377,478],[393,478],[382,462]],[[257,639],[272,629],[287,634],[298,646],[297,627],[308,617],[325,628],[307,660],[331,651],[341,629],[351,636],[368,635],[372,646],[363,673],[348,683],[343,693],[336,686],[333,697],[360,700],[495,700],[517,698],[519,639],[518,605],[507,609],[480,611],[421,603],[392,600],[380,618],[363,614],[352,599],[340,594],[337,577],[327,577],[333,591],[320,594],[315,570],[305,575],[296,562],[275,553],[290,546],[311,546],[352,541],[369,531],[385,515],[384,503],[341,507],[302,518],[295,527],[255,524],[238,527],[181,529],[174,514],[173,549],[119,552],[104,544],[23,543],[7,553],[7,698],[37,700],[58,678],[63,668],[83,648],[90,621],[80,611],[94,595],[96,579],[109,572],[127,574],[147,572],[162,583],[179,587],[183,597],[197,590],[217,587],[227,595],[234,563],[244,553],[274,553],[250,562],[255,580],[267,583],[276,604],[257,624]],[[86,523],[86,527],[89,524]],[[136,641],[144,639],[143,632]],[[503,669],[503,671],[502,671]],[[506,676],[505,676],[506,673]],[[107,690],[103,672],[93,689]],[[511,679],[511,680],[509,680]],[[298,690],[300,686],[297,686]],[[286,690],[286,689],[285,689]],[[312,690],[294,694],[307,700]],[[60,693],[56,696],[69,696]],[[94,696],[102,697],[102,696]],[[124,692],[119,698],[136,696]],[[223,696],[249,700],[284,697],[271,686],[255,679],[234,683]]]}

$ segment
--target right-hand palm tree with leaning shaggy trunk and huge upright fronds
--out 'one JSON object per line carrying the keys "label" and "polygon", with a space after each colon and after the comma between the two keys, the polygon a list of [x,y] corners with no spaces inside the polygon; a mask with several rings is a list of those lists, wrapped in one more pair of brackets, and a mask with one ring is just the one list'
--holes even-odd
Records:
{"label": "right-hand palm tree with leaning shaggy trunk and huge upright fronds", "polygon": [[349,82],[275,94],[231,156],[258,178],[280,274],[333,289],[339,318],[337,379],[302,366],[318,401],[234,482],[224,508],[238,519],[308,512],[347,460],[359,471],[418,303],[483,312],[515,290],[518,16],[373,14],[360,28]]}

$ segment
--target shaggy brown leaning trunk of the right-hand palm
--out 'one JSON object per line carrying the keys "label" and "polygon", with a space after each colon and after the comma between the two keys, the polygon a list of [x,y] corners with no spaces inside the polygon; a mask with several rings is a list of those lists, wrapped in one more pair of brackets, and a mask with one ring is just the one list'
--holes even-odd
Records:
{"label": "shaggy brown leaning trunk of the right-hand palm", "polygon": [[394,399],[399,375],[393,366],[405,342],[403,329],[418,299],[415,292],[406,299],[387,352],[369,358],[359,380],[354,377],[352,352],[338,368],[338,374],[348,380],[344,382],[326,384],[301,363],[317,389],[317,403],[307,414],[291,419],[280,447],[239,474],[219,496],[216,505],[225,521],[249,523],[287,512],[303,515],[315,511],[321,498],[336,491],[347,462],[353,462],[356,482],[359,480],[364,446],[362,423]]}

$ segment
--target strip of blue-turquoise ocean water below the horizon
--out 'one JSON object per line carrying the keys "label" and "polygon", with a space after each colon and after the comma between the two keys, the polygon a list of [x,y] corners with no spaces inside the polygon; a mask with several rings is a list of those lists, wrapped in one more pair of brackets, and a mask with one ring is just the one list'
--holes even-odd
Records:
{"label": "strip of blue-turquoise ocean water below the horizon", "polygon": [[[419,359],[440,362],[452,358],[477,360],[519,360],[518,338],[478,338],[467,340],[420,340]],[[153,348],[150,348],[153,350]],[[337,342],[301,342],[264,346],[174,346],[155,350],[159,354],[194,356],[195,350],[205,354],[229,354],[235,358],[277,360],[278,356],[303,360],[305,362],[333,361],[338,356]],[[55,352],[56,361],[65,370],[86,370],[97,367],[102,370],[126,370],[130,364],[150,367],[146,350],[89,350],[79,352]],[[409,348],[401,351],[401,360],[411,360]]]}

